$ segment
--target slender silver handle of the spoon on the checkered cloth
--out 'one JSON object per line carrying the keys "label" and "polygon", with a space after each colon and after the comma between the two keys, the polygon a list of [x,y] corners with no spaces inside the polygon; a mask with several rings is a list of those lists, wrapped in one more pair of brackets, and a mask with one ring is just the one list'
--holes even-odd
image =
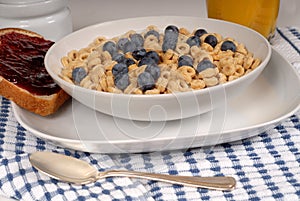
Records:
{"label": "slender silver handle of the spoon on the checkered cloth", "polygon": [[168,182],[172,184],[181,184],[192,187],[207,188],[213,190],[233,190],[236,181],[233,177],[195,177],[195,176],[178,176],[156,174],[148,172],[137,172],[127,170],[109,170],[106,172],[99,172],[98,177],[112,177],[123,176],[141,179],[150,179],[155,181]]}

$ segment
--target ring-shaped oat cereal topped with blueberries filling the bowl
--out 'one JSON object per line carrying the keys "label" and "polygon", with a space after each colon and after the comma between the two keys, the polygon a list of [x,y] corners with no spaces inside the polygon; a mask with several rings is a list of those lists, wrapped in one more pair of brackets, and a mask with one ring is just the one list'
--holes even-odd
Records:
{"label": "ring-shaped oat cereal topped with blueberries filling the bowl", "polygon": [[[92,40],[92,39],[91,39]],[[165,94],[201,90],[251,72],[261,60],[244,44],[204,29],[146,27],[114,38],[99,36],[61,58],[60,76],[110,93]]]}

